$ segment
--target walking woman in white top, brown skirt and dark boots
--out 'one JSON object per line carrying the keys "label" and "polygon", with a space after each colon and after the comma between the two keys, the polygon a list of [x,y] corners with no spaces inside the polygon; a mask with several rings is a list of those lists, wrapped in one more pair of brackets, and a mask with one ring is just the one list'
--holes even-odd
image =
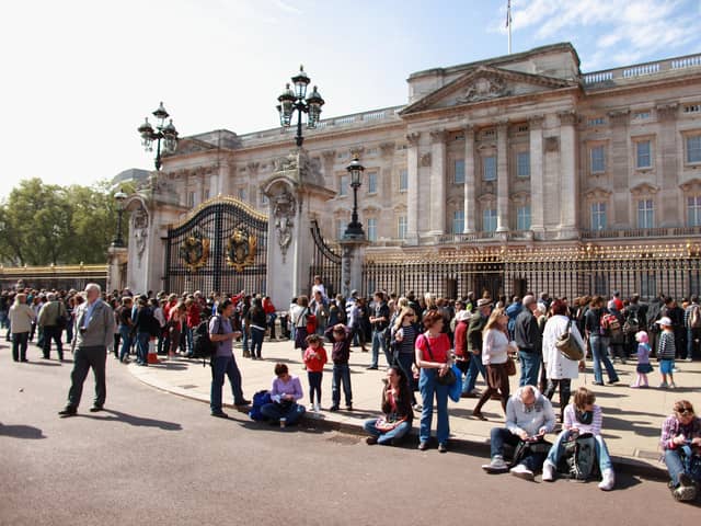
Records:
{"label": "walking woman in white top, brown skirt and dark boots", "polygon": [[482,414],[482,405],[492,395],[499,396],[502,409],[506,414],[506,402],[510,393],[506,361],[509,359],[508,315],[503,308],[494,309],[484,325],[482,343],[482,364],[486,367],[487,388],[482,393],[480,401],[472,411],[472,415],[480,420],[486,420]]}

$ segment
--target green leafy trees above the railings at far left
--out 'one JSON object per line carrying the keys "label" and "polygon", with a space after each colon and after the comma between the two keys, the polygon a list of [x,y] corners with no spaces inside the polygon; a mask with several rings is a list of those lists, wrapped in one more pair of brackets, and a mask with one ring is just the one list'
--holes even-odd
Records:
{"label": "green leafy trees above the railings at far left", "polygon": [[117,228],[114,193],[106,181],[68,187],[41,179],[20,182],[0,203],[0,261],[10,265],[106,262]]}

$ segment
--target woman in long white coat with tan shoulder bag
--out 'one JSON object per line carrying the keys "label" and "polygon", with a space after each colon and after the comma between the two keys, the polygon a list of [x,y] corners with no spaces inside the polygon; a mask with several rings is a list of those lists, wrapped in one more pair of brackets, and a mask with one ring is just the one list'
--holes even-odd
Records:
{"label": "woman in long white coat with tan shoulder bag", "polygon": [[[584,370],[584,361],[575,362],[563,356],[555,343],[558,339],[565,333],[570,318],[567,316],[567,305],[564,301],[555,300],[550,306],[552,316],[545,323],[543,330],[543,363],[545,364],[545,376],[548,377],[548,387],[545,395],[552,400],[558,387],[560,387],[560,422],[563,420],[563,412],[570,403],[572,392],[572,380],[579,376],[579,369]],[[572,338],[585,348],[582,335],[577,330],[576,323],[570,324]]]}

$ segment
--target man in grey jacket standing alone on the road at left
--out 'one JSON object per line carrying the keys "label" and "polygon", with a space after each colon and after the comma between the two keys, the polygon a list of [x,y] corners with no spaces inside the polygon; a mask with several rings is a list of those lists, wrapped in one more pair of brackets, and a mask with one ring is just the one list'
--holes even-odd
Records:
{"label": "man in grey jacket standing alone on the road at left", "polygon": [[76,311],[76,324],[71,351],[73,352],[73,370],[70,374],[68,403],[58,412],[61,418],[72,416],[78,412],[83,384],[88,370],[95,375],[95,400],[91,412],[102,411],[105,404],[107,388],[105,385],[105,361],[107,345],[114,339],[114,313],[112,308],[101,299],[102,289],[95,283],[85,285],[85,299]]}

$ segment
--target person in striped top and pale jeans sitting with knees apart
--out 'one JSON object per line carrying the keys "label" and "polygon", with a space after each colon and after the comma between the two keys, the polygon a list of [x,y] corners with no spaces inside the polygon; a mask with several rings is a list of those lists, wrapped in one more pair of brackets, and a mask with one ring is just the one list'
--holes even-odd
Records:
{"label": "person in striped top and pale jeans sitting with knees apart", "polygon": [[567,441],[575,439],[585,433],[594,436],[596,458],[599,460],[599,470],[601,471],[601,482],[599,489],[609,491],[613,489],[616,477],[613,474],[613,466],[611,457],[606,447],[606,442],[601,436],[601,408],[594,402],[596,395],[586,387],[581,387],[574,393],[574,402],[565,408],[563,431],[555,438],[555,443],[548,453],[548,459],[543,465],[543,480],[551,482],[555,478],[558,464],[564,455],[564,444]]}

